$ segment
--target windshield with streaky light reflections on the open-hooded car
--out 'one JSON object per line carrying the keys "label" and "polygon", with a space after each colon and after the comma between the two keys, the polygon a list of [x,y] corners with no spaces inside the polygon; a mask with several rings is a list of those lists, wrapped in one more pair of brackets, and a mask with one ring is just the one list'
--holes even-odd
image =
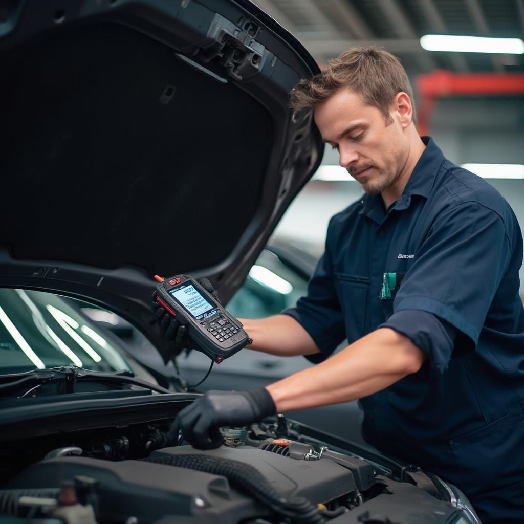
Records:
{"label": "windshield with streaky light reflections on the open-hooded car", "polygon": [[113,337],[53,293],[0,289],[0,374],[73,364],[95,371],[131,369]]}

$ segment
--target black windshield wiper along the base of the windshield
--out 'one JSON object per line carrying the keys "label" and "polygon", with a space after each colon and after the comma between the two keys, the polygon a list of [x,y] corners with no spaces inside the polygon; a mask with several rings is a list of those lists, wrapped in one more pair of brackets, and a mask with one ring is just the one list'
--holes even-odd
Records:
{"label": "black windshield wiper along the base of the windshield", "polygon": [[0,375],[0,395],[24,385],[42,386],[53,382],[64,384],[64,393],[74,393],[74,385],[79,381],[93,381],[102,384],[131,384],[159,393],[172,393],[162,386],[136,378],[134,373],[127,369],[122,371],[91,371],[77,366],[60,366],[50,369],[33,369],[25,373]]}

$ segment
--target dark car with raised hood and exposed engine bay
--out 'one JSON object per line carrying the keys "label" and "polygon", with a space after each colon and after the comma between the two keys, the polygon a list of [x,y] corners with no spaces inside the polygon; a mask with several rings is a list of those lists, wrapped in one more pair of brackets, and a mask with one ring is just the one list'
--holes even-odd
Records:
{"label": "dark car with raised hood and exposed engine bay", "polygon": [[14,0],[0,64],[0,522],[478,522],[431,472],[284,414],[168,441],[199,394],[87,320],[168,363],[154,275],[242,285],[322,157],[287,105],[319,72],[300,42],[247,0]]}

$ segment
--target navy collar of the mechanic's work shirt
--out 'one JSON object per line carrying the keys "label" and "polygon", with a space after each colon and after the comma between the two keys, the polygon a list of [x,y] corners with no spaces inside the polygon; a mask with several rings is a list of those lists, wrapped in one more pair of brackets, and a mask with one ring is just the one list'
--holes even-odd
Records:
{"label": "navy collar of the mechanic's work shirt", "polygon": [[[393,206],[393,209],[399,211],[407,209],[411,202],[411,195],[420,195],[424,198],[428,198],[431,189],[433,188],[436,173],[442,165],[444,155],[442,154],[440,147],[435,144],[430,136],[423,136],[421,138],[426,147],[424,151],[422,151],[422,155],[420,156],[417,165],[414,167],[408,183],[402,191],[402,195]],[[383,209],[381,196],[365,195],[361,200],[361,203],[363,205],[359,214],[365,214],[377,221],[378,215],[380,215],[378,209]],[[381,211],[381,214],[384,215],[384,211]]]}

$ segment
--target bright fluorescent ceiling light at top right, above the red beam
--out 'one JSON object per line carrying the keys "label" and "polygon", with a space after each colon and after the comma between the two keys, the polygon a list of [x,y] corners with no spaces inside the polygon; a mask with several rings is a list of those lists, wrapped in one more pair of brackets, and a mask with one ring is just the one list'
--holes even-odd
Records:
{"label": "bright fluorescent ceiling light at top right, above the red beam", "polygon": [[520,38],[424,35],[420,39],[420,45],[427,51],[503,54],[524,53],[524,42]]}

